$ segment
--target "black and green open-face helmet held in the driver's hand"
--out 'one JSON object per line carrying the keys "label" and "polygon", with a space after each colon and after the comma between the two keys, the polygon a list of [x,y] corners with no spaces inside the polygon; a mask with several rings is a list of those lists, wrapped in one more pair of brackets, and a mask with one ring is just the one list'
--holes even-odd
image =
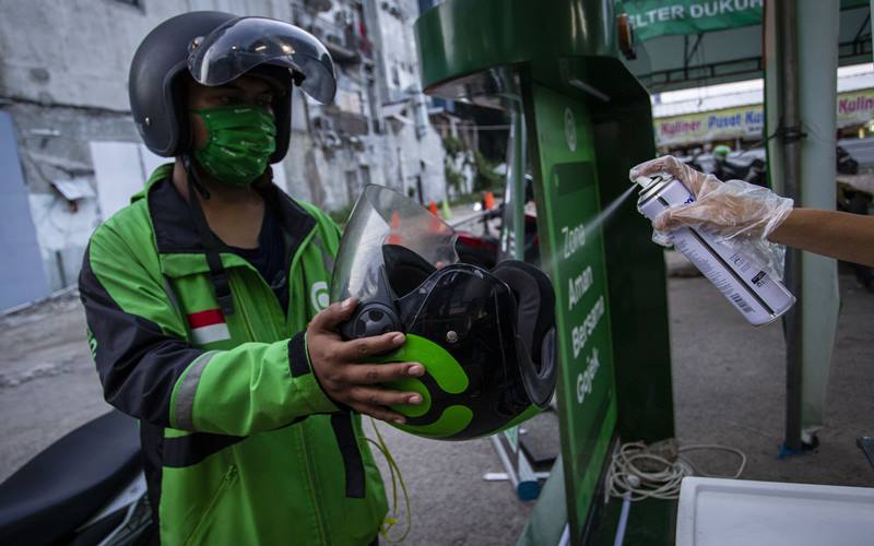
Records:
{"label": "black and green open-face helmet held in the driver's hand", "polygon": [[492,271],[459,262],[456,233],[412,200],[368,186],[340,245],[333,301],[358,300],[346,339],[401,331],[406,343],[374,361],[416,361],[422,378],[388,387],[424,402],[394,406],[398,428],[437,440],[498,432],[538,414],[556,382],[555,296],[523,262]]}

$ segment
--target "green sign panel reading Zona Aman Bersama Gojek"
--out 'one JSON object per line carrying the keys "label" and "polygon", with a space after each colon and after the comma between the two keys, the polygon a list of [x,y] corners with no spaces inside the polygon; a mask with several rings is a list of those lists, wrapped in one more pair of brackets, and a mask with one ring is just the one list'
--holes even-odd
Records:
{"label": "green sign panel reading Zona Aman Bersama Gojek", "polygon": [[[555,286],[559,424],[568,517],[581,530],[616,424],[604,242],[587,107],[533,85],[542,192],[538,228]],[[544,233],[545,232],[545,233]]]}

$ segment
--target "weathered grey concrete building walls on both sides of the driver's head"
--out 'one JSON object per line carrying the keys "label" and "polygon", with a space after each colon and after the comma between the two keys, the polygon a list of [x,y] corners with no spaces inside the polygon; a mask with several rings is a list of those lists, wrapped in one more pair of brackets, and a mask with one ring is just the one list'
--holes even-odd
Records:
{"label": "weathered grey concrete building walls on both sides of the driver's head", "polygon": [[[442,145],[427,118],[417,118],[424,111],[417,104],[424,102],[411,87],[418,81],[412,41],[416,3],[397,2],[403,5],[401,19],[379,4],[393,5],[393,0],[367,0],[362,9],[354,1],[335,0],[330,12],[318,14],[331,21],[341,10],[361,13],[375,46],[373,61],[338,64],[340,93],[330,108],[295,91],[291,146],[274,167],[283,170],[293,197],[327,210],[349,206],[367,181],[417,194],[421,179],[425,202],[445,195]],[[133,52],[160,22],[194,10],[285,21],[312,15],[299,0],[0,0],[0,108],[16,128],[32,217],[52,289],[75,282],[87,238],[106,216],[97,197],[71,204],[52,181],[85,180],[96,193],[91,143],[140,143],[127,92]],[[381,52],[383,44],[391,54]],[[400,66],[401,85],[390,81],[383,62]],[[401,103],[404,121],[382,119],[383,103],[392,100]],[[336,128],[350,114],[364,127],[363,133],[317,127]]]}

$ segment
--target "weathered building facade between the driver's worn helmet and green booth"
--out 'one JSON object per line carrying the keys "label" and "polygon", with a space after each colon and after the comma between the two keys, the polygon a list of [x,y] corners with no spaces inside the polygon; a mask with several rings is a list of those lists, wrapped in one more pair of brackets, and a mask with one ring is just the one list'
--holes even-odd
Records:
{"label": "weathered building facade between the driver's worn helmet and green booth", "polygon": [[[336,1],[331,12],[319,17],[334,21],[338,11],[356,11],[354,7],[355,2]],[[340,67],[338,85],[341,93],[359,97],[359,112],[368,122],[367,133],[352,138],[336,130],[334,135],[328,135],[310,127],[308,138],[315,144],[311,149],[306,145],[307,136],[295,134],[297,142],[304,142],[304,150],[295,152],[303,157],[295,164],[303,159],[305,168],[303,171],[291,168],[290,186],[294,186],[292,180],[304,177],[310,187],[310,199],[317,204],[332,210],[349,206],[368,178],[373,183],[421,198],[424,203],[446,197],[446,153],[427,119],[418,85],[418,59],[412,28],[417,10],[415,0],[373,0],[363,4],[361,14],[367,39],[374,44],[373,62],[365,58],[362,64]],[[393,74],[399,78],[394,79]],[[373,85],[369,92],[368,83]],[[307,100],[304,106],[310,120],[332,117],[329,109],[315,102]],[[316,179],[320,182],[315,182]],[[319,191],[312,192],[314,186]]]}

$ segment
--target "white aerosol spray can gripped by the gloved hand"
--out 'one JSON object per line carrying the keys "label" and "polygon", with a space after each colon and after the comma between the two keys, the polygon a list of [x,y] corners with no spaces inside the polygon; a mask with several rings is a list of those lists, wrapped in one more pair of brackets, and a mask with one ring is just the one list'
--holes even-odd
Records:
{"label": "white aerosol spray can gripped by the gloved hand", "polygon": [[[650,221],[669,206],[695,201],[683,182],[669,174],[643,176],[635,181],[642,188],[637,210]],[[751,324],[767,324],[795,302],[783,283],[706,229],[681,227],[671,232],[671,236],[674,248],[688,258]]]}

